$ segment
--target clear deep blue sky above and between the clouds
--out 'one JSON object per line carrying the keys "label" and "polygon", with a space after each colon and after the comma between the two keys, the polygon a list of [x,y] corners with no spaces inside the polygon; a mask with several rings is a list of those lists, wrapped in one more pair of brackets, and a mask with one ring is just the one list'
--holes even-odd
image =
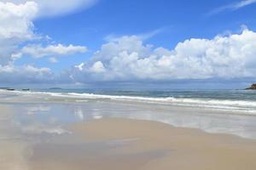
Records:
{"label": "clear deep blue sky above and between the clouds", "polygon": [[[90,48],[90,52],[99,49],[109,35],[139,35],[156,30],[160,32],[145,42],[156,47],[174,48],[177,42],[192,37],[212,38],[225,31],[241,31],[242,25],[256,30],[256,3],[236,11],[225,10],[209,15],[215,8],[236,2],[100,0],[90,9],[38,19],[34,25],[38,32],[49,35],[56,42],[83,44]],[[63,59],[53,68],[60,70],[88,58],[89,53],[75,59]],[[47,63],[40,61],[38,66],[42,65]]]}

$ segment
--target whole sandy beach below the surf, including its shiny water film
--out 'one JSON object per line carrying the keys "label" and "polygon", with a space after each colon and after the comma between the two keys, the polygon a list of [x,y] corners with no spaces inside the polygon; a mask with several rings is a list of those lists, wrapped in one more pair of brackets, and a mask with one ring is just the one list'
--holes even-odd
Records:
{"label": "whole sandy beach below the surf, including its shiny water film", "polygon": [[[239,127],[241,133],[253,136],[254,116],[131,101],[64,99],[45,94],[3,98],[0,169],[256,169],[256,140],[231,132]],[[191,126],[189,120],[200,126],[191,128],[197,124]],[[204,127],[220,130],[207,133]]]}

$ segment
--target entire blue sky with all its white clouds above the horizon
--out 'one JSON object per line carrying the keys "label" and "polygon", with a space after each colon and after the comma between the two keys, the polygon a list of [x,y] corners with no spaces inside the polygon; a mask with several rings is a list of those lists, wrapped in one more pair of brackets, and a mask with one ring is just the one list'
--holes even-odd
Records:
{"label": "entire blue sky with all its white clouds above the horizon", "polygon": [[241,88],[255,16],[256,0],[0,0],[0,85]]}

